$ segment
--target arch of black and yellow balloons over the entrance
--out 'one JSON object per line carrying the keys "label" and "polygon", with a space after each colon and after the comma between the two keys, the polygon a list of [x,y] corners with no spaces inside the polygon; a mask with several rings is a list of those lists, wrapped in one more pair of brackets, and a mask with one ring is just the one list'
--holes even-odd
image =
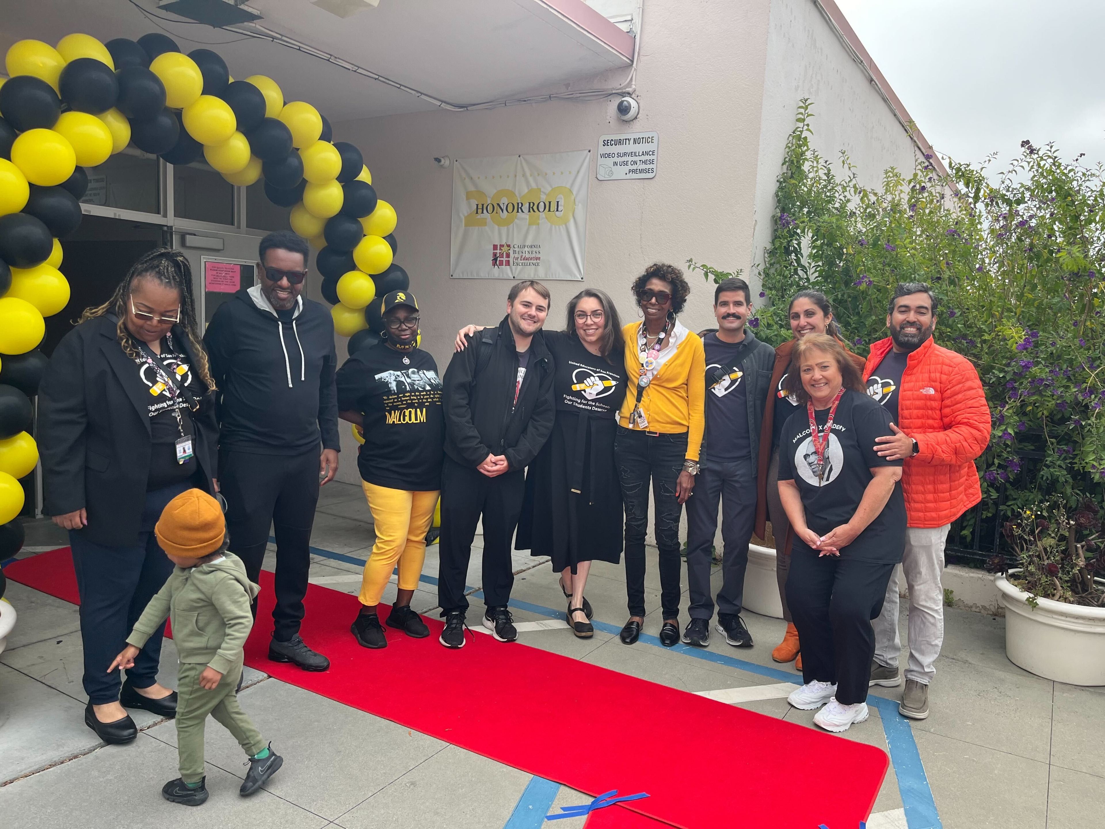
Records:
{"label": "arch of black and yellow balloons over the entrance", "polygon": [[69,34],[22,40],[0,80],[0,560],[22,546],[19,479],[39,459],[30,434],[46,358],[44,317],[69,304],[59,241],[81,223],[85,167],[128,144],[172,165],[203,158],[232,185],[264,179],[291,225],[318,251],[322,292],[338,334],[382,332],[380,298],[410,280],[392,262],[396,211],[378,199],[361,153],[332,140],[311,104],[284,101],[264,75],[230,76],[208,49],[165,34],[101,43]]}

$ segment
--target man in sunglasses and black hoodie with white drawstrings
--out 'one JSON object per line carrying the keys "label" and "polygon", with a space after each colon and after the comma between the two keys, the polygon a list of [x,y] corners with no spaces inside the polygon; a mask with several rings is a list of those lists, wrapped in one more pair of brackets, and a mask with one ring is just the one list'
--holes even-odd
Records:
{"label": "man in sunglasses and black hoodie with white drawstrings", "polygon": [[330,315],[301,295],[307,255],[307,243],[290,231],[262,239],[260,284],[219,306],[203,344],[219,387],[230,550],[251,581],[260,581],[270,523],[276,536],[269,659],[325,671],[329,660],[299,638],[299,622],[318,487],[338,469],[337,355]]}

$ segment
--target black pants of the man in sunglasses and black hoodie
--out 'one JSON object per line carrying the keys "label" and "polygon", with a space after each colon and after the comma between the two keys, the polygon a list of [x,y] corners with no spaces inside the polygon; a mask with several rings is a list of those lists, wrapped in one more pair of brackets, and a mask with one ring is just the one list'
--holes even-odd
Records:
{"label": "black pants of the man in sunglasses and black hoodie", "polygon": [[[273,638],[286,642],[299,632],[303,597],[311,570],[311,528],[318,504],[318,457],[219,452],[219,487],[227,499],[230,552],[242,559],[250,581],[261,579],[269,527],[276,537]],[[257,602],[253,602],[256,617]]]}

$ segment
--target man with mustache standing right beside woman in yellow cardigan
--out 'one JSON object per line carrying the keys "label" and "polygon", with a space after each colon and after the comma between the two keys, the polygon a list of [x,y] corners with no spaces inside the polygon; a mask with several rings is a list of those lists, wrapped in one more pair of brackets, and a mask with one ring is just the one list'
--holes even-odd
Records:
{"label": "man with mustache standing right beside woman in yellow cardigan", "polygon": [[760,426],[775,364],[775,349],[746,327],[753,311],[748,283],[728,279],[714,291],[718,328],[703,332],[706,350],[706,428],[694,495],[687,501],[687,584],[691,622],[687,644],[709,643],[714,615],[709,567],[717,505],[722,503],[723,584],[717,594],[717,632],[736,648],[750,648],[740,618],[748,567],[748,541],[756,520],[756,459]]}

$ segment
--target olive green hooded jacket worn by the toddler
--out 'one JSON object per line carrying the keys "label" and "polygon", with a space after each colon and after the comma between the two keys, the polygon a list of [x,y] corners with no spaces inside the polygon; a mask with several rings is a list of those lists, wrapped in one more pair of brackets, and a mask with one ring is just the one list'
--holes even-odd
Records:
{"label": "olive green hooded jacket worn by the toddler", "polygon": [[206,663],[219,673],[240,664],[253,627],[250,602],[261,588],[246,577],[241,558],[222,555],[209,564],[173,567],[135,622],[127,644],[145,646],[168,616],[181,662]]}

